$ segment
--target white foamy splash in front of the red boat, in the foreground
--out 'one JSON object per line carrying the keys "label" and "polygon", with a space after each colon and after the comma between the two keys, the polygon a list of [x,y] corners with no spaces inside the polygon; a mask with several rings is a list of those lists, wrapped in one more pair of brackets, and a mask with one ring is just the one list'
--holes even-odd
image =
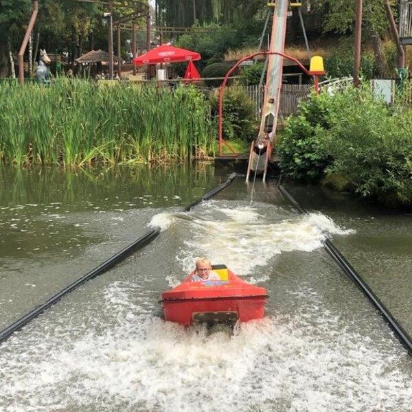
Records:
{"label": "white foamy splash in front of the red boat, in the foreground", "polygon": [[1,411],[410,411],[407,371],[393,367],[407,354],[356,328],[342,334],[311,290],[290,293],[301,301],[294,316],[233,333],[162,321],[133,284],[115,282],[105,297],[104,332],[73,340],[56,328],[24,356],[4,354]]}

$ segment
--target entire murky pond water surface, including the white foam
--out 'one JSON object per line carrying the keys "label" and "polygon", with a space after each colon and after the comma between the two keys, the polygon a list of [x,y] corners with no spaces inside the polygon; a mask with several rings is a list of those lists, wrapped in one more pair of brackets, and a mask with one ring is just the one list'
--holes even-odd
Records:
{"label": "entire murky pond water surface, including the white foam", "polygon": [[[0,328],[142,236],[161,235],[0,346],[0,410],[411,411],[412,360],[322,248],[412,333],[412,216],[319,187],[169,168],[0,170]],[[263,321],[182,328],[161,291],[207,255],[268,289]]]}

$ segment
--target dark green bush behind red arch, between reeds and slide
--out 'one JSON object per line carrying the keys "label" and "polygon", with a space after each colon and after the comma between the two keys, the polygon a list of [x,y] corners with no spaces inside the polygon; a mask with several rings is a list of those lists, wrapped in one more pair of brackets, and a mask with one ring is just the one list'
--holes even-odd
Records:
{"label": "dark green bush behind red arch, between reeds and slide", "polygon": [[[210,95],[212,110],[218,119],[218,90]],[[240,87],[225,89],[223,96],[223,137],[224,139],[251,140],[255,137],[255,108],[247,93]]]}

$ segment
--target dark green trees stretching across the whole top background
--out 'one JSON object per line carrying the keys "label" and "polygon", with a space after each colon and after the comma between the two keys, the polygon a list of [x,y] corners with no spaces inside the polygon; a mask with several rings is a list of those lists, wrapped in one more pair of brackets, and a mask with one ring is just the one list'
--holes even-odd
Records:
{"label": "dark green trees stretching across the whole top background", "polygon": [[[103,0],[104,1],[104,0]],[[150,4],[153,22],[160,26],[192,27],[180,38],[166,34],[161,41],[173,40],[177,44],[194,48],[204,56],[202,64],[218,62],[227,49],[258,44],[262,33],[267,7],[264,0],[116,0],[117,4],[129,5],[113,9],[115,19],[133,9],[133,3]],[[396,14],[398,1],[391,0]],[[331,33],[350,37],[354,33],[356,0],[307,0],[310,13],[321,16],[325,36]],[[102,22],[107,5],[82,0],[40,0],[38,20],[34,28],[32,49],[39,47],[47,52],[66,52],[69,62],[89,49],[107,50],[107,27]],[[10,75],[12,60],[21,45],[32,12],[32,0],[0,0],[0,76]],[[144,17],[142,25],[144,26]],[[298,25],[299,19],[291,19],[290,25]],[[201,27],[203,30],[196,30]],[[382,39],[388,30],[383,1],[363,0],[363,38],[371,45],[378,73],[385,71]],[[127,34],[123,38],[126,48]],[[144,33],[140,36],[144,45]],[[155,43],[160,39],[155,36]],[[27,60],[27,58],[26,58]],[[33,59],[32,59],[33,60]],[[387,59],[386,59],[387,60]]]}

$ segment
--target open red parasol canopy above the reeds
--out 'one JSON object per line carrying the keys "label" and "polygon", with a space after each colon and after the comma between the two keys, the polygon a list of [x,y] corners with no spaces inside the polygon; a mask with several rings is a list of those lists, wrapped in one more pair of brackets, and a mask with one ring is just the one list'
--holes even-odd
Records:
{"label": "open red parasol canopy above the reeds", "polygon": [[133,59],[135,66],[157,65],[158,63],[185,62],[187,60],[201,60],[201,55],[179,47],[161,45],[141,56]]}

